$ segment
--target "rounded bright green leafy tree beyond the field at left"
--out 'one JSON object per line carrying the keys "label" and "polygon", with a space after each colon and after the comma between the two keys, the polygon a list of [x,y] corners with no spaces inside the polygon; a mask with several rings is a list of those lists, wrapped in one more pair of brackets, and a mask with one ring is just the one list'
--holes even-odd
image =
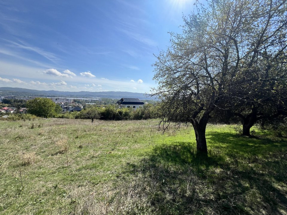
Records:
{"label": "rounded bright green leafy tree beyond the field at left", "polygon": [[54,116],[56,104],[48,98],[35,98],[27,101],[26,107],[28,113],[49,118]]}

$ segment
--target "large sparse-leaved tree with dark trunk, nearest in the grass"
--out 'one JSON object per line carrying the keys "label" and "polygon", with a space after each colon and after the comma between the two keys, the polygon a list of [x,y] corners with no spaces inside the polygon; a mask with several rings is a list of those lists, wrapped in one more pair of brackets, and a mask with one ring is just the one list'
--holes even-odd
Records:
{"label": "large sparse-leaved tree with dark trunk, nearest in the grass", "polygon": [[[171,33],[171,46],[159,53],[154,64],[158,87],[152,93],[162,100],[160,125],[164,131],[172,121],[178,125],[190,122],[197,150],[203,153],[207,153],[205,129],[212,112],[231,108],[236,100],[233,92],[244,82],[244,74],[256,76],[253,65],[261,45],[277,43],[275,38],[262,38],[268,34],[272,37],[286,24],[283,0],[218,0],[207,4],[209,7],[197,2],[195,12],[184,17],[183,33]],[[280,21],[269,26],[275,18]],[[279,39],[285,40],[283,35]],[[233,85],[234,81],[238,84]],[[244,98],[247,90],[240,92],[239,98]]]}

